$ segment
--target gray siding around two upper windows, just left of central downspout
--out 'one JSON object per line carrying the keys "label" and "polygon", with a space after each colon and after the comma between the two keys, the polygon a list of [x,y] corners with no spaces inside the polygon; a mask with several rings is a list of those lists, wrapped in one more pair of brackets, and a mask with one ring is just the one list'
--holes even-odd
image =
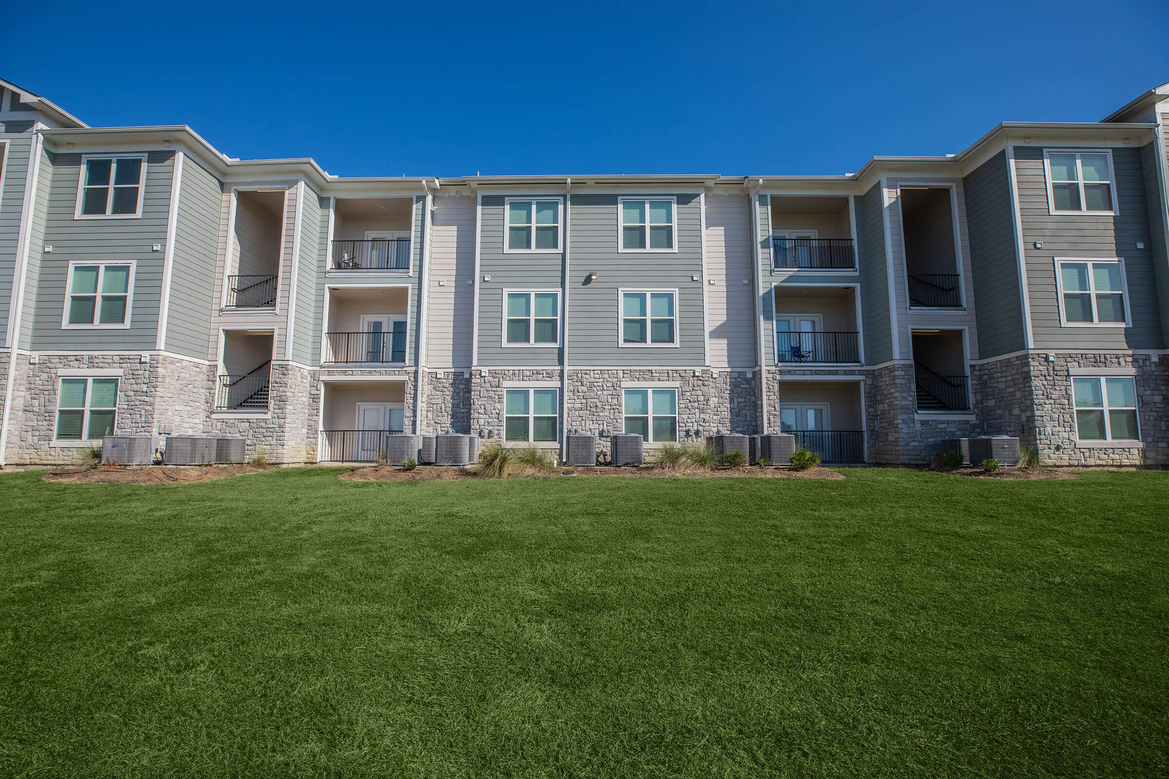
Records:
{"label": "gray siding around two upper windows, just left of central downspout", "polygon": [[[563,208],[561,207],[561,224],[563,224]],[[559,347],[505,347],[502,345],[504,290],[560,290],[563,278],[563,253],[560,251],[531,255],[504,253],[504,196],[484,195],[479,215],[478,364],[560,364]],[[579,229],[575,197],[573,199],[572,227],[574,232]],[[575,244],[573,251],[576,251]],[[490,276],[491,280],[483,280],[485,276]],[[575,326],[580,327],[581,325]]]}

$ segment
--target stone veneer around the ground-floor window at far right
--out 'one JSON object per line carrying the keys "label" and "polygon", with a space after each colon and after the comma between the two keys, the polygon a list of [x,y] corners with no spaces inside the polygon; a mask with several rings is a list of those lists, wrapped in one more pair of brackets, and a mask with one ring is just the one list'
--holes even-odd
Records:
{"label": "stone veneer around the ground-floor window at far right", "polygon": [[[1071,368],[1133,368],[1143,448],[1077,447]],[[1030,355],[1039,457],[1050,465],[1169,465],[1169,364],[1147,354]]]}

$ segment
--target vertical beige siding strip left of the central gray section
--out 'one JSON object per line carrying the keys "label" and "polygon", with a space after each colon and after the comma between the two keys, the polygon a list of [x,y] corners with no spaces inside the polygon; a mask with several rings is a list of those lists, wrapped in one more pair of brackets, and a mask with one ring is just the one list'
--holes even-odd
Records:
{"label": "vertical beige siding strip left of the central gray section", "polygon": [[[435,199],[430,249],[427,367],[471,367],[475,307],[475,197]],[[445,281],[438,286],[438,281]]]}

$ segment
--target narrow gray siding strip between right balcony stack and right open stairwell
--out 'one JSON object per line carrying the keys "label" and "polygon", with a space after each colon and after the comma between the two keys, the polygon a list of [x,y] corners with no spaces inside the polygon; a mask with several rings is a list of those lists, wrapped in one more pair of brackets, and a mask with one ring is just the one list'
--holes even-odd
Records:
{"label": "narrow gray siding strip between right balcony stack and right open stairwell", "polygon": [[865,331],[865,362],[893,359],[893,328],[888,314],[888,257],[880,185],[852,199],[857,210],[857,263],[860,271],[860,315]]}

